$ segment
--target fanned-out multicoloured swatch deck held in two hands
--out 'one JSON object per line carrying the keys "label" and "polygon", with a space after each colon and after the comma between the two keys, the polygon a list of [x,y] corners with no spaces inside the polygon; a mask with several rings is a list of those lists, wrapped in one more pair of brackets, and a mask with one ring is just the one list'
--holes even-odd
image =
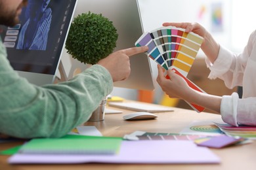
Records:
{"label": "fanned-out multicoloured swatch deck held in two hands", "polygon": [[[175,70],[175,73],[182,76],[191,88],[203,92],[186,78],[202,42],[203,37],[200,35],[192,32],[186,33],[185,29],[169,26],[144,33],[135,42],[135,46],[148,46],[146,52],[148,57],[159,63],[165,70]],[[165,75],[167,75],[166,72]],[[204,110],[201,106],[188,104],[197,112]]]}

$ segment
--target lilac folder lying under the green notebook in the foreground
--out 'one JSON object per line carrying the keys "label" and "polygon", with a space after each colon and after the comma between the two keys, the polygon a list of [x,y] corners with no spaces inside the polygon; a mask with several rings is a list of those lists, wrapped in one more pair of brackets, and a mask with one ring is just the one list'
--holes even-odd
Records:
{"label": "lilac folder lying under the green notebook in the foreground", "polygon": [[122,141],[118,154],[14,154],[9,163],[220,163],[192,141]]}

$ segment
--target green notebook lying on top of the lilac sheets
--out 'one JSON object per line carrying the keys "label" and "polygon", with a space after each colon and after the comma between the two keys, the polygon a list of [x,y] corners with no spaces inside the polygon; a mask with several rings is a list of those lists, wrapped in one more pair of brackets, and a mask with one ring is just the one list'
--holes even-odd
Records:
{"label": "green notebook lying on top of the lilac sheets", "polygon": [[32,139],[24,144],[22,154],[117,154],[122,139],[119,137],[75,137]]}

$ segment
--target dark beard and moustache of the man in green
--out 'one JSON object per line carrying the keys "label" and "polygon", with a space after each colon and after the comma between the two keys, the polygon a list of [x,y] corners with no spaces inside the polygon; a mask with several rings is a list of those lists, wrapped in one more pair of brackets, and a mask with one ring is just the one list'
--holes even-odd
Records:
{"label": "dark beard and moustache of the man in green", "polygon": [[[20,5],[18,6],[18,9],[25,7],[27,5],[27,3],[28,3],[28,0],[22,1],[22,3],[20,3]],[[0,9],[1,9],[1,11],[3,11],[5,9],[3,3],[1,3],[1,2],[0,2]],[[18,18],[18,14],[17,14],[18,9],[3,12],[4,14],[3,13],[0,14],[0,24],[7,25],[10,27],[18,24],[20,22],[20,20]]]}

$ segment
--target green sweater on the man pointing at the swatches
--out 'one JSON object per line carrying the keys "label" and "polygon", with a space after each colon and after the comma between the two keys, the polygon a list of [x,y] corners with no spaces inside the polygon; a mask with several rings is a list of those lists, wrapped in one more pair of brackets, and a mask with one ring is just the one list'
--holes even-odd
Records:
{"label": "green sweater on the man pointing at the swatches", "polygon": [[112,89],[112,77],[100,65],[60,84],[30,84],[12,69],[0,39],[0,133],[61,137],[86,122]]}

